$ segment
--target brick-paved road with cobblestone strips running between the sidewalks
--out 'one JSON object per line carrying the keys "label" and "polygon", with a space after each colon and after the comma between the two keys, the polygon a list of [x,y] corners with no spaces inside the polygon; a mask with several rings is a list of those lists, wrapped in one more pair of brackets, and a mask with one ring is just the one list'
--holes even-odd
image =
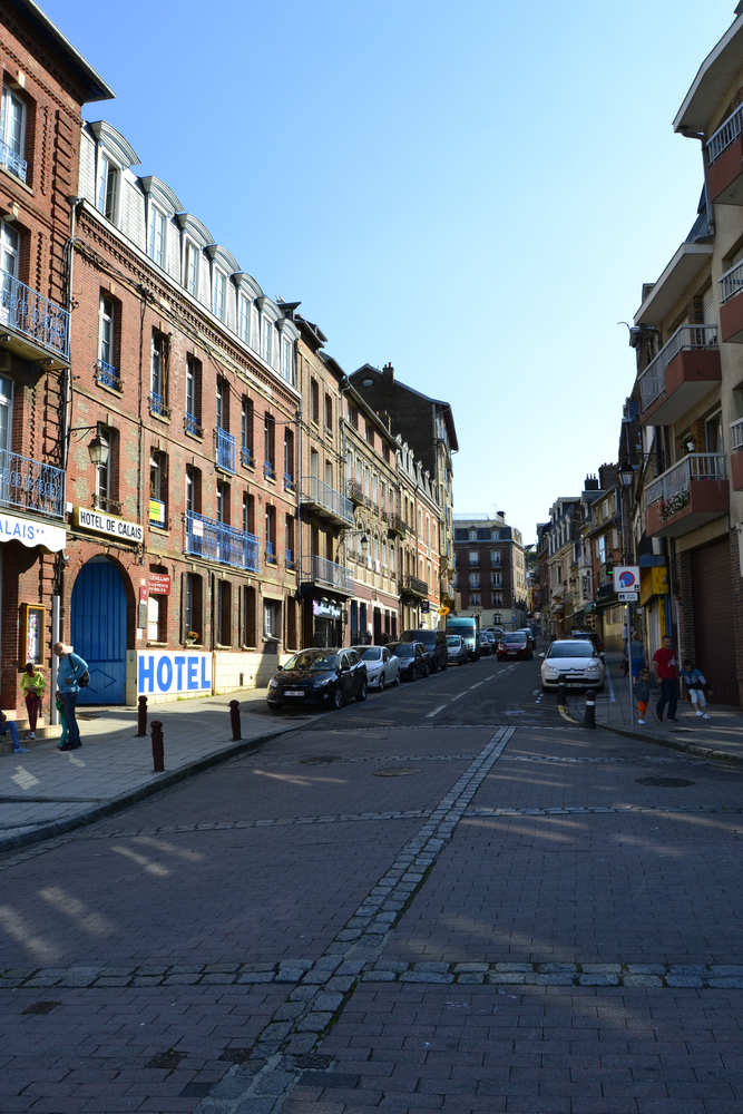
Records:
{"label": "brick-paved road with cobblestone strips running between the sidewalks", "polygon": [[743,1111],[741,774],[481,662],[0,858],[0,1112]]}

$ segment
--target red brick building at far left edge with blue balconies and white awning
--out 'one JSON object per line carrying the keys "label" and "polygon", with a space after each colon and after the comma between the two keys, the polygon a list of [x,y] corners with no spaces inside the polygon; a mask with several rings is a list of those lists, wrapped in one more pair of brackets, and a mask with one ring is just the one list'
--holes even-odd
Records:
{"label": "red brick building at far left edge with blue balconies and white awning", "polygon": [[0,9],[0,700],[12,715],[19,671],[47,666],[62,629],[70,197],[82,105],[114,94],[26,0]]}

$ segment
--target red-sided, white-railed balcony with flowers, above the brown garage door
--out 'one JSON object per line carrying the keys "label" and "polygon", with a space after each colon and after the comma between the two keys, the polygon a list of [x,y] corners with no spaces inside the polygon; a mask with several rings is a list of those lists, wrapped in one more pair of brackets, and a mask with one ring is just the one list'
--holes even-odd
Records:
{"label": "red-sided, white-railed balcony with flowers, above the brown garage door", "polygon": [[722,452],[690,452],[645,488],[648,537],[678,537],[726,515],[730,489]]}

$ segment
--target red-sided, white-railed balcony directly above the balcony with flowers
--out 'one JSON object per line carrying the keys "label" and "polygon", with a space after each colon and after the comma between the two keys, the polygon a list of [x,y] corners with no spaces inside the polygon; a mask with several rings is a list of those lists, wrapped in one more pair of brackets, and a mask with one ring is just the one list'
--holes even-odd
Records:
{"label": "red-sided, white-railed balcony directly above the balcony with flowers", "polygon": [[669,426],[721,379],[716,325],[681,325],[637,380],[641,421]]}

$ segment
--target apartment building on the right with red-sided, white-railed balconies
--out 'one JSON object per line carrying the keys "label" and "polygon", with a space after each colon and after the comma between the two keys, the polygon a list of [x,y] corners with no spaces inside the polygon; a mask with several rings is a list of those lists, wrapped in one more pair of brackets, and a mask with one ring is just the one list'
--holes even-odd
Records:
{"label": "apartment building on the right with red-sided, white-railed balconies", "polygon": [[[702,62],[674,119],[701,140],[698,212],[630,333],[644,438],[636,538],[665,558],[665,606],[647,625],[743,696],[743,10]],[[653,593],[656,594],[655,590]]]}

